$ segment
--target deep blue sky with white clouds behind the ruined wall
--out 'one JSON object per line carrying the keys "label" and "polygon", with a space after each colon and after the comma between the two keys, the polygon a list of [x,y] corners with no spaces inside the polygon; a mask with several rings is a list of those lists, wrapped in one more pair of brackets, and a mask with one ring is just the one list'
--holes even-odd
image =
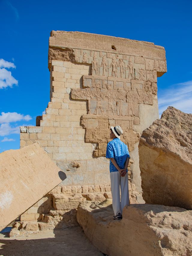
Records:
{"label": "deep blue sky with white clouds behind the ruined wall", "polygon": [[159,112],[191,113],[192,1],[0,0],[0,152],[19,149],[19,126],[35,125],[49,102],[52,30],[82,31],[165,47]]}

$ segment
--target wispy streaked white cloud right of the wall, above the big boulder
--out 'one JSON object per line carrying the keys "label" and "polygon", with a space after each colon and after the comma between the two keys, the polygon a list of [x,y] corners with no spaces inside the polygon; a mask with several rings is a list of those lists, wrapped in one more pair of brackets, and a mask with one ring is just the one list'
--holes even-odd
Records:
{"label": "wispy streaked white cloud right of the wall, above the big boulder", "polygon": [[169,106],[192,113],[192,80],[164,89],[163,94],[158,95],[158,105],[160,116]]}

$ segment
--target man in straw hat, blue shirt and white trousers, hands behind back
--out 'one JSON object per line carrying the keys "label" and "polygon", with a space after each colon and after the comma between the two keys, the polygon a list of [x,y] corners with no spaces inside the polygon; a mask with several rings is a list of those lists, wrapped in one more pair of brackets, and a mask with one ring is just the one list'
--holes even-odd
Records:
{"label": "man in straw hat, blue shirt and white trousers, hands behind back", "polygon": [[[111,126],[110,139],[107,144],[106,158],[110,158],[110,180],[111,193],[114,216],[113,219],[122,219],[122,210],[125,205],[129,205],[129,190],[128,190],[128,163],[129,151],[127,145],[120,140],[120,135],[123,134],[122,128],[117,125]],[[120,191],[121,188],[121,201]]]}

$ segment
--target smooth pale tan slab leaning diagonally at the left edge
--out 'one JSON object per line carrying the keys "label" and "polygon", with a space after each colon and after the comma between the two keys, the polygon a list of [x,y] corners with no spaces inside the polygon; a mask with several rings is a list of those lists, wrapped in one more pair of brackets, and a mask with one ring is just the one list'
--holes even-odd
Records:
{"label": "smooth pale tan slab leaning diagonally at the left edge", "polygon": [[66,178],[37,144],[0,154],[0,230]]}

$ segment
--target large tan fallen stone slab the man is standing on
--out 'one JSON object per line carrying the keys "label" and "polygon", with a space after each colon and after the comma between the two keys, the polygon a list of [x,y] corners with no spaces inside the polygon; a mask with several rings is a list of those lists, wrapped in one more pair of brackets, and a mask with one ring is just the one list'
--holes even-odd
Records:
{"label": "large tan fallen stone slab the man is standing on", "polygon": [[[109,199],[107,199],[109,200]],[[131,204],[113,220],[111,201],[85,201],[77,221],[87,238],[110,256],[192,255],[192,211],[179,207]]]}

